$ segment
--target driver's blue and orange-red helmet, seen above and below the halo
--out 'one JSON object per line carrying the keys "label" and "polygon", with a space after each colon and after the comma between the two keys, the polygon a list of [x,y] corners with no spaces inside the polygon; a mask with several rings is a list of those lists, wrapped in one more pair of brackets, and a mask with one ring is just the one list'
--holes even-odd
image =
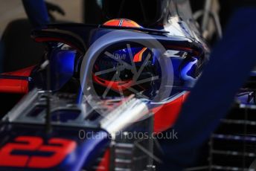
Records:
{"label": "driver's blue and orange-red helmet, seen above and below the halo", "polygon": [[[105,22],[105,26],[141,28],[136,22],[129,19],[112,19]],[[106,53],[100,54],[93,68],[93,81],[100,94],[106,88],[124,94],[136,92],[153,94],[159,80],[151,77],[160,76],[161,70],[156,59],[156,51],[138,45],[138,43],[122,43],[109,48]],[[137,73],[137,71],[139,71]],[[139,82],[138,80],[147,80]]]}

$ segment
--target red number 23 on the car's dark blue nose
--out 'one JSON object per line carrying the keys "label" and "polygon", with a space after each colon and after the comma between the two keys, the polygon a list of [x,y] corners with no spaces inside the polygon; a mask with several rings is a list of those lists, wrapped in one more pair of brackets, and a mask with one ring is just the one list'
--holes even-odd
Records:
{"label": "red number 23 on the car's dark blue nose", "polygon": [[[51,138],[48,141],[48,145],[43,144],[42,138],[31,136],[19,136],[15,138],[15,141],[15,143],[7,143],[0,149],[1,167],[29,167],[42,169],[55,167],[77,146],[75,141],[62,138]],[[14,150],[53,152],[53,155],[48,157],[13,155],[11,153]]]}

